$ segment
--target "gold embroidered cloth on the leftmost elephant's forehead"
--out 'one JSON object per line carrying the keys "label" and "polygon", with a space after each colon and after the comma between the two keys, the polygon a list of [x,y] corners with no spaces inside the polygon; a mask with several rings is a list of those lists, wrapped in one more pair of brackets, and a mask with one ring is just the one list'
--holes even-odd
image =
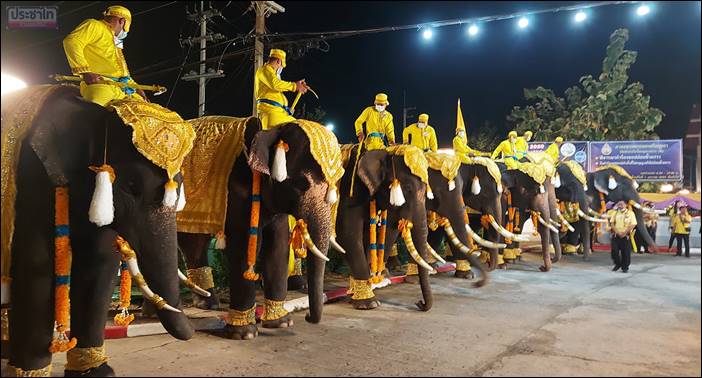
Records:
{"label": "gold embroidered cloth on the leftmost elephant's forehead", "polygon": [[195,132],[178,113],[141,100],[114,100],[107,104],[133,129],[132,143],[142,155],[173,178],[193,147]]}

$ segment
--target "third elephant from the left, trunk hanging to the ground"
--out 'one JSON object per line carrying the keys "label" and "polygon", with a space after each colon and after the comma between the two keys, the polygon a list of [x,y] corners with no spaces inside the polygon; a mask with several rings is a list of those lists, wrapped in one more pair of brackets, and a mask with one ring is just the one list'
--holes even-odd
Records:
{"label": "third elephant from the left, trunk hanging to the ground", "polygon": [[[416,149],[411,146],[402,147]],[[369,260],[373,257],[369,214],[371,202],[375,201],[376,209],[387,209],[387,232],[384,245],[390,246],[395,243],[400,233],[399,222],[401,220],[408,220],[412,223],[409,233],[404,233],[403,239],[411,254],[412,252],[416,253],[416,251],[419,253],[415,259],[419,262],[422,300],[418,301],[416,305],[421,311],[429,311],[433,305],[429,271],[433,268],[425,261],[429,253],[425,199],[427,185],[420,177],[413,174],[403,156],[382,149],[365,151],[360,155],[354,179],[358,148],[358,145],[344,146],[344,149],[350,150],[350,157],[339,185],[342,195],[336,215],[338,244],[346,251],[345,258],[351,270],[351,286],[349,288],[349,292],[353,293],[351,304],[355,309],[361,310],[374,309],[380,304],[370,285],[371,271],[369,269],[371,263]],[[416,153],[423,158],[421,151],[417,149]],[[394,185],[395,179],[399,180],[400,194],[406,199],[406,201],[401,201],[404,203],[391,201],[393,195],[387,188]],[[351,196],[350,191],[352,184],[353,196]],[[379,250],[383,250],[383,248],[384,246],[379,246]],[[384,261],[387,256],[383,257]]]}

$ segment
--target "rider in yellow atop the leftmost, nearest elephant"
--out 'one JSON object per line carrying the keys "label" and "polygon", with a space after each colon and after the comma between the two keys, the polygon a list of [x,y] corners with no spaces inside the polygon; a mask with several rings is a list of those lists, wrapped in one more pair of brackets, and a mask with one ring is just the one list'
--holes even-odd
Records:
{"label": "rider in yellow atop the leftmost, nearest elephant", "polygon": [[141,89],[120,88],[106,80],[136,84],[129,77],[129,69],[122,48],[129,33],[132,14],[121,5],[113,5],[102,20],[88,19],[63,39],[66,59],[74,75],[80,75],[80,94],[87,101],[105,106],[112,100],[133,98],[146,100]]}

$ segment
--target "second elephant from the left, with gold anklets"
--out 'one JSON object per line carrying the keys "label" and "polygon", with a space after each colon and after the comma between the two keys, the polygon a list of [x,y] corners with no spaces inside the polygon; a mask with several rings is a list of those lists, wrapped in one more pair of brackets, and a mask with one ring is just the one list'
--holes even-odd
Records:
{"label": "second elephant from the left, with gold anklets", "polygon": [[[266,300],[262,326],[286,328],[293,325],[292,318],[283,308],[288,278],[288,214],[306,223],[305,237],[313,243],[308,244],[308,250],[315,253],[307,259],[306,265],[309,313],[305,319],[310,323],[319,323],[322,317],[324,266],[331,235],[330,206],[325,193],[331,188],[322,168],[312,156],[312,141],[299,122],[302,121],[262,130],[258,118],[249,118],[243,137],[248,161],[244,153],[235,157],[228,174],[224,225],[226,247],[223,253],[227,256],[229,267],[230,309],[224,333],[232,339],[250,340],[258,335],[254,317],[256,279],[244,277],[245,272],[248,274],[247,245],[250,242],[250,227],[253,227],[249,221],[254,171],[260,172],[260,231],[254,253],[260,255],[259,266],[262,267]],[[331,137],[325,135],[327,143],[338,146],[336,138],[329,134]],[[282,178],[275,178],[276,171],[281,168],[275,166],[281,141],[288,146],[282,162],[286,172],[283,172]],[[209,240],[210,235],[207,234],[178,233],[178,243],[190,268],[207,264],[206,246]]]}

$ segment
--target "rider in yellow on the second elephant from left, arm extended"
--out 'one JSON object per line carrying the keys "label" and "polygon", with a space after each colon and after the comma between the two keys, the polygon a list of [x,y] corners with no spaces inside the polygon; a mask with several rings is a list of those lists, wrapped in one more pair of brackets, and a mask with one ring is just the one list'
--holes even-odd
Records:
{"label": "rider in yellow on the second elephant from left, arm extended", "polygon": [[256,111],[264,130],[295,120],[283,92],[307,92],[304,79],[292,82],[280,78],[285,66],[285,51],[272,49],[268,62],[256,70]]}

